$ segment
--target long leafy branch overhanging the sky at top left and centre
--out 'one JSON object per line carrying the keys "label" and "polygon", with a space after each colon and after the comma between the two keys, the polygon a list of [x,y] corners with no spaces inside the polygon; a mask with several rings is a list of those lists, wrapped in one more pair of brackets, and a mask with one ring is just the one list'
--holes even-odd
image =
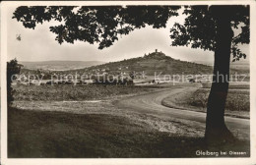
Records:
{"label": "long leafy branch overhanging the sky at top left and centre", "polygon": [[99,43],[98,48],[109,47],[118,35],[128,34],[135,28],[165,27],[170,16],[177,16],[178,6],[21,6],[14,17],[24,27],[58,21],[64,24],[50,27],[57,34],[55,40],[74,43],[75,40]]}

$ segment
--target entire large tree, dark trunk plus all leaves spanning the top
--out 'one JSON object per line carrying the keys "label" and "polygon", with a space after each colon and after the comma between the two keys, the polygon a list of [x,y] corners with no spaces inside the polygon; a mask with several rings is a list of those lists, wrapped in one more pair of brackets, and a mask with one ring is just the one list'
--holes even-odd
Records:
{"label": "entire large tree, dark trunk plus all leaves spanning the top", "polygon": [[[61,44],[75,40],[109,47],[118,36],[146,27],[166,27],[170,17],[178,16],[181,6],[49,6],[17,8],[15,19],[34,28],[47,21],[61,22],[50,27]],[[228,11],[228,12],[226,12]],[[172,46],[191,46],[215,52],[214,78],[208,99],[205,137],[218,142],[232,138],[224,124],[224,104],[228,90],[230,53],[234,60],[246,57],[237,45],[249,43],[249,6],[185,6],[184,25],[170,29]],[[241,33],[233,36],[233,28]],[[224,77],[222,77],[223,75]],[[224,79],[226,78],[226,79]]]}

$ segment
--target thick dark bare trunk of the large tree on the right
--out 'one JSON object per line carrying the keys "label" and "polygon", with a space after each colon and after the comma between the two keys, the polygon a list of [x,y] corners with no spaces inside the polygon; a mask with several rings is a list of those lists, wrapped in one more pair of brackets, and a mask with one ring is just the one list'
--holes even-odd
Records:
{"label": "thick dark bare trunk of the large tree on the right", "polygon": [[217,10],[216,8],[218,14],[216,16],[217,38],[214,77],[207,104],[205,138],[210,143],[222,143],[234,139],[224,124],[224,108],[228,91],[230,47],[233,31],[230,27],[228,16],[222,15],[222,10],[224,12],[224,9],[220,10],[219,8]]}

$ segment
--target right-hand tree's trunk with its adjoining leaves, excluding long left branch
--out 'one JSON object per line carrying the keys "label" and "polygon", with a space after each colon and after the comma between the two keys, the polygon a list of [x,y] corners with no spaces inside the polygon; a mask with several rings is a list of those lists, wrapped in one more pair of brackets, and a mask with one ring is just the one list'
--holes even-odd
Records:
{"label": "right-hand tree's trunk with its adjoining leaves, excluding long left branch", "polygon": [[[228,11],[228,12],[226,12]],[[224,124],[224,107],[228,91],[230,53],[233,61],[245,58],[239,43],[249,43],[249,6],[186,7],[185,24],[170,29],[172,45],[190,45],[215,52],[213,83],[208,98],[205,138],[211,142],[234,139]],[[241,27],[234,37],[233,28]]]}

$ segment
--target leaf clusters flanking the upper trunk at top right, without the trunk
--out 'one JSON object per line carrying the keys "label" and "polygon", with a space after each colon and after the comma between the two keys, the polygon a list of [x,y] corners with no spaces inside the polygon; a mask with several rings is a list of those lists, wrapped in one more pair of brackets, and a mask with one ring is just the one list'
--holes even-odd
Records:
{"label": "leaf clusters flanking the upper trunk at top right, without the trunk", "polygon": [[[226,6],[226,10],[231,27],[241,28],[241,32],[232,37],[233,61],[246,58],[238,44],[250,42],[249,6]],[[183,14],[187,15],[184,25],[176,23],[170,28],[171,45],[215,51],[218,15],[215,6],[186,6]]]}

